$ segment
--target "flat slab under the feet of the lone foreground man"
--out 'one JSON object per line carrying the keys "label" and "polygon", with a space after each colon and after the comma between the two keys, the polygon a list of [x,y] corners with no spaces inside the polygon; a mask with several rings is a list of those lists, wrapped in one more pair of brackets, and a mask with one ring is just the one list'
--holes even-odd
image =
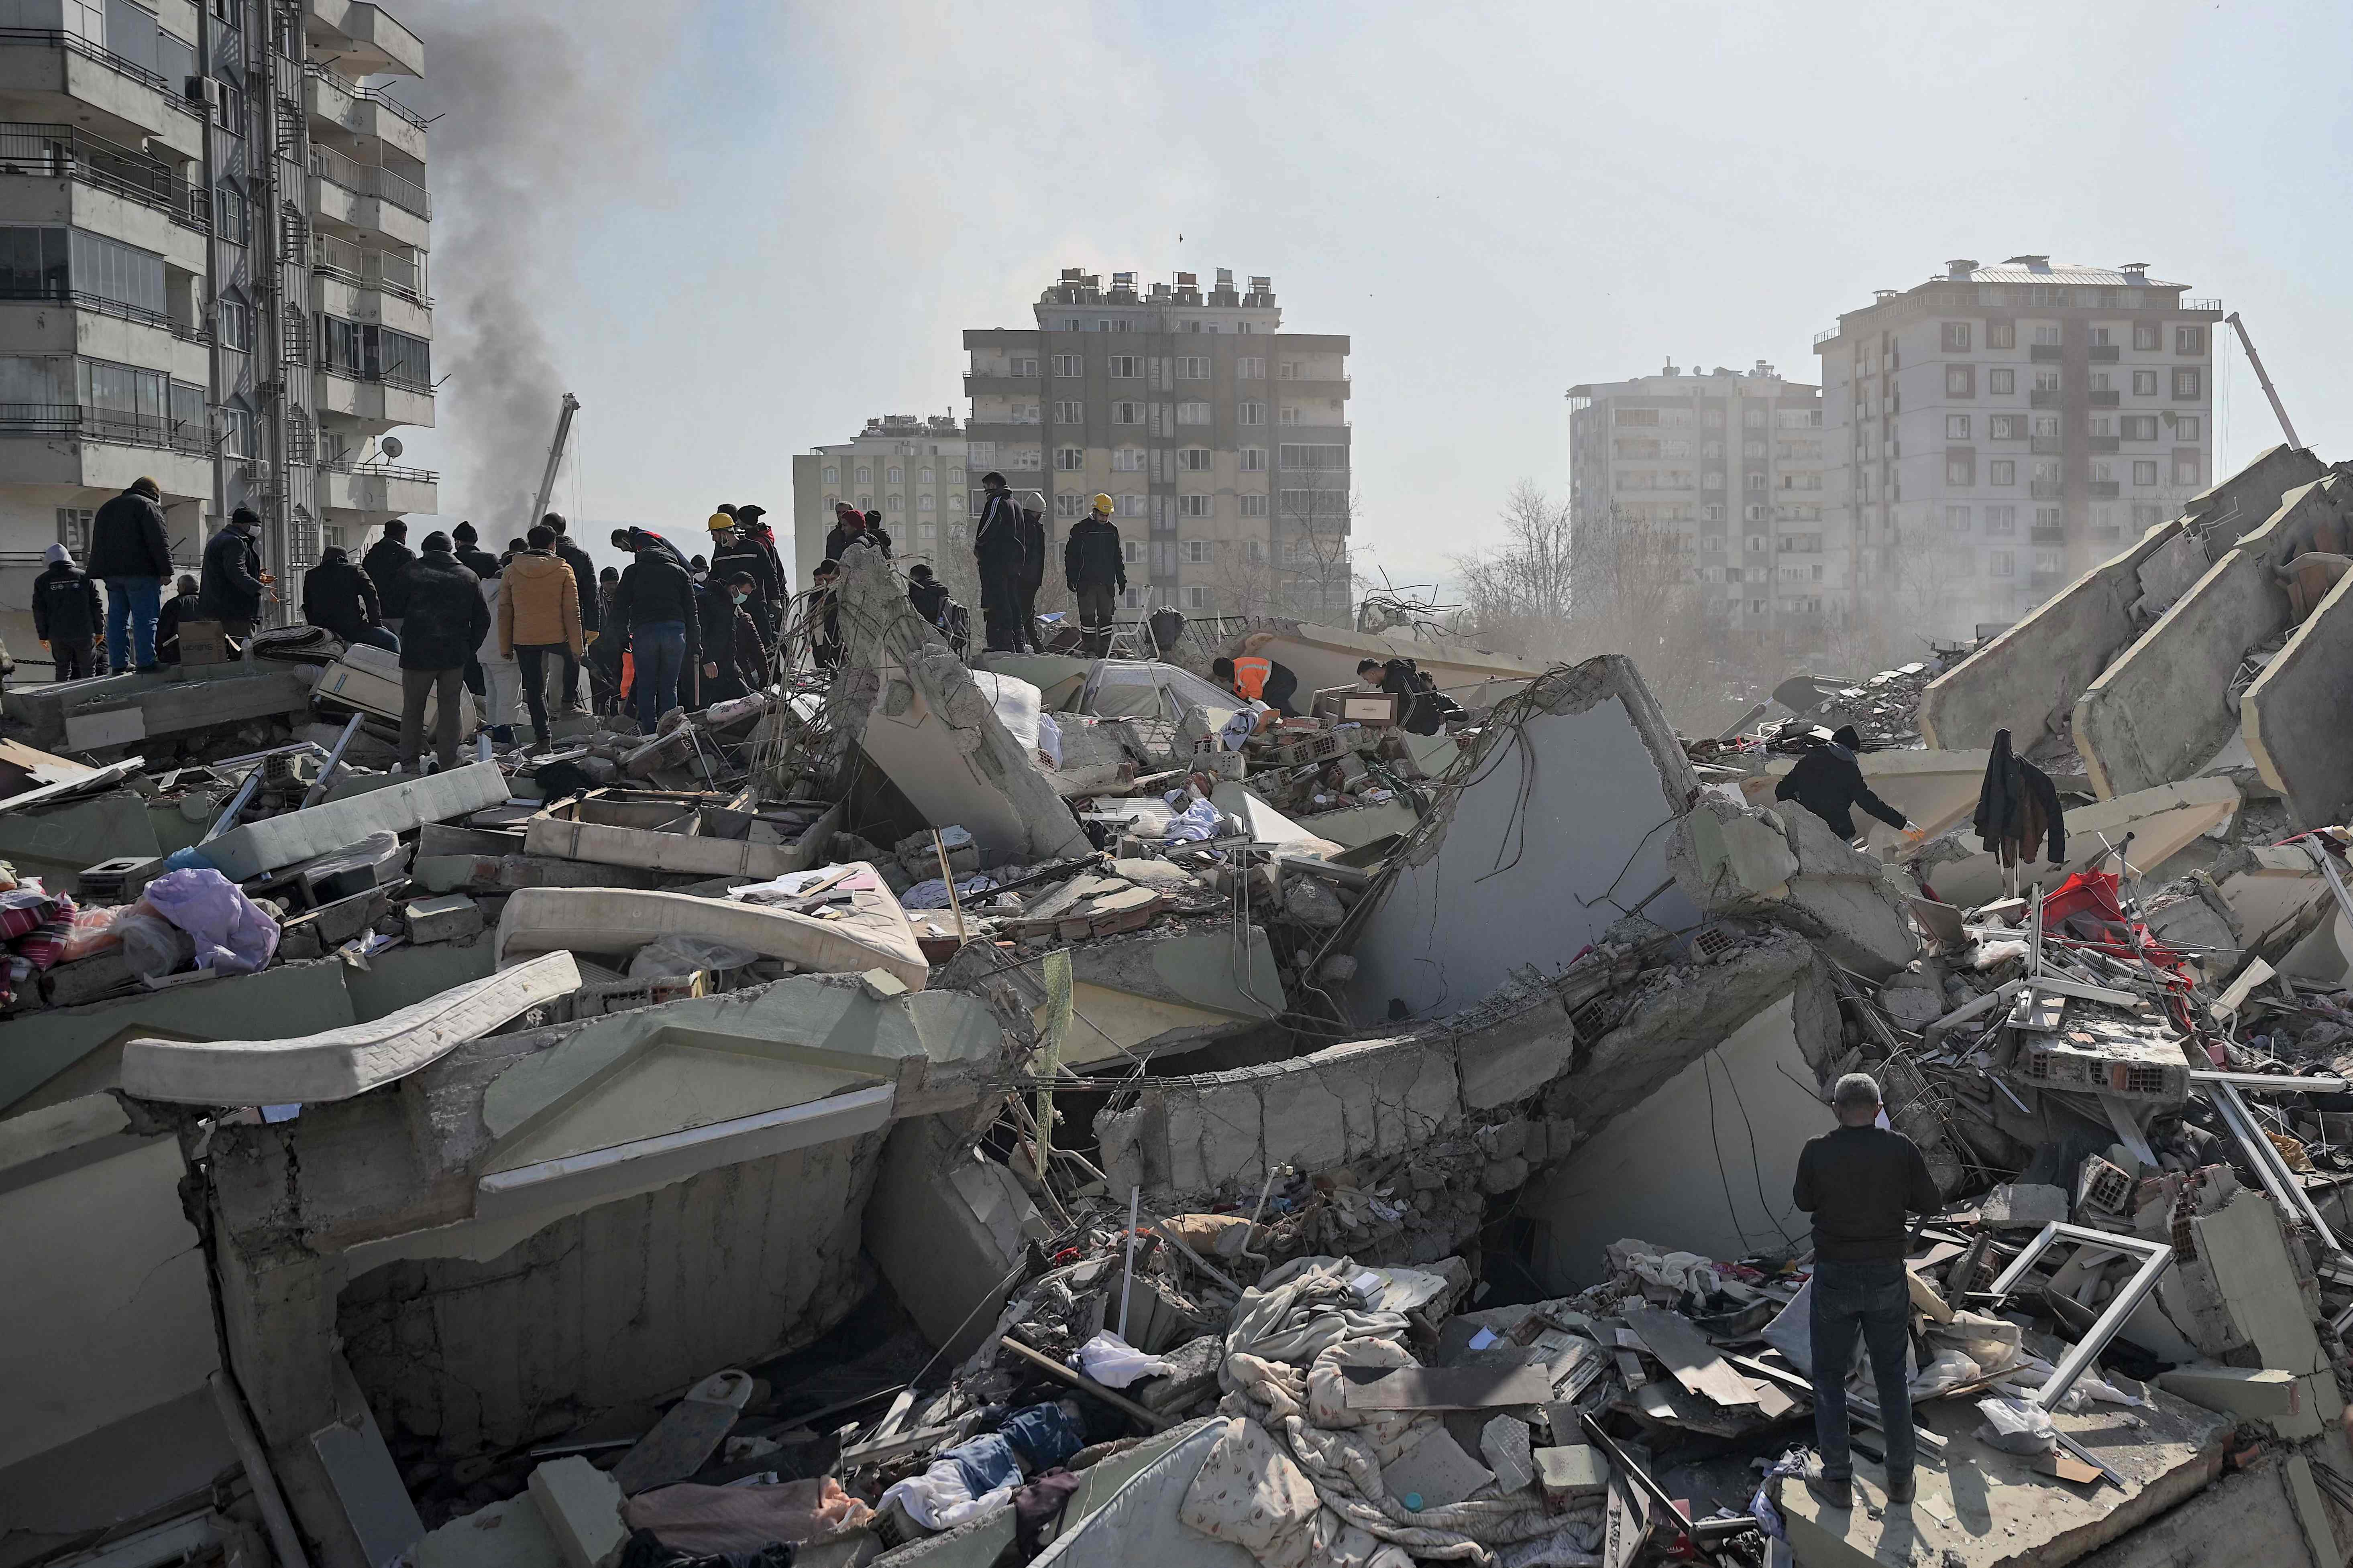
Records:
{"label": "flat slab under the feet of the lone foreground man", "polygon": [[2113,1486],[2068,1486],[2038,1474],[2028,1458],[1979,1443],[1981,1418],[1967,1399],[1915,1406],[1913,1415],[1946,1439],[1946,1453],[1941,1460],[1920,1455],[1920,1493],[1908,1507],[1887,1507],[1887,1479],[1861,1455],[1854,1509],[1826,1509],[1800,1481],[1779,1483],[1788,1544],[1805,1568],[2071,1563],[2212,1483],[2231,1439],[2228,1415],[2162,1392],[2153,1392],[2151,1408],[2057,1413],[2061,1432],[2125,1479],[2118,1493]]}

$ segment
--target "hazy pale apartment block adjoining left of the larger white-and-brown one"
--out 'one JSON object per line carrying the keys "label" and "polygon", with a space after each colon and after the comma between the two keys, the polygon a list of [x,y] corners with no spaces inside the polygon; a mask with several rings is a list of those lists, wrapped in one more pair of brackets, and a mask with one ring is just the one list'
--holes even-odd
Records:
{"label": "hazy pale apartment block adjoining left of the larger white-and-brown one", "polygon": [[1821,388],[1758,360],[1569,388],[1569,522],[1671,531],[1701,602],[1744,632],[1835,625],[1847,536],[1824,517]]}

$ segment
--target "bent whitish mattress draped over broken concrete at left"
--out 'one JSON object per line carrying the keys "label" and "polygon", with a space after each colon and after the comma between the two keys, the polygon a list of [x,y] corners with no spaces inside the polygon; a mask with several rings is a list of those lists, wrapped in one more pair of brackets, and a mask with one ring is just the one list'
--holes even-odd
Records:
{"label": "bent whitish mattress draped over broken concrete at left", "polygon": [[122,1088],[176,1105],[289,1105],[348,1100],[405,1079],[525,1009],[579,987],[569,952],[440,992],[374,1023],[294,1039],[132,1039],[122,1046]]}

